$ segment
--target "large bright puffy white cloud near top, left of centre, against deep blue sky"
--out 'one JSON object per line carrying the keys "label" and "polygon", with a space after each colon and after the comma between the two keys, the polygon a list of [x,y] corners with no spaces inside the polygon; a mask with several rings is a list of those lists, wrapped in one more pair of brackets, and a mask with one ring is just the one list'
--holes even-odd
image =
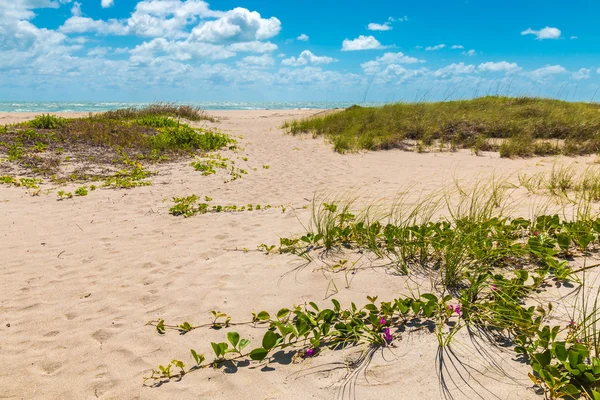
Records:
{"label": "large bright puffy white cloud near top, left of centre, against deep blue sky", "polygon": [[190,40],[226,43],[264,40],[279,34],[281,22],[271,17],[262,18],[256,11],[234,8],[214,21],[201,23],[192,30]]}

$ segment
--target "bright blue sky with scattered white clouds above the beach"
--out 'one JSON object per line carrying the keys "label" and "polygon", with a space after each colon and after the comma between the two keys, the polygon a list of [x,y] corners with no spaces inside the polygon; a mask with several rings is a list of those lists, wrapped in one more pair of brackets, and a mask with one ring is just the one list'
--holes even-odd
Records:
{"label": "bright blue sky with scattered white clouds above the beach", "polygon": [[595,0],[0,0],[0,101],[598,101]]}

